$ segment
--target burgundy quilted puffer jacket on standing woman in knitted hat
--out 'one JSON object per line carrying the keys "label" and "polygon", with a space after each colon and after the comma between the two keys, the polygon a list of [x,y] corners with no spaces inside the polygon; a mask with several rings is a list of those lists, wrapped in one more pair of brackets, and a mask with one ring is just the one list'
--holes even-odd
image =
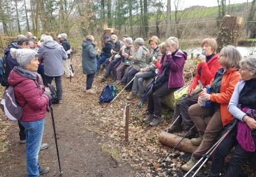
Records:
{"label": "burgundy quilted puffer jacket on standing woman in knitted hat", "polygon": [[30,122],[45,117],[49,98],[44,94],[44,88],[39,87],[37,80],[26,78],[12,70],[8,83],[14,86],[16,101],[23,108],[21,120]]}

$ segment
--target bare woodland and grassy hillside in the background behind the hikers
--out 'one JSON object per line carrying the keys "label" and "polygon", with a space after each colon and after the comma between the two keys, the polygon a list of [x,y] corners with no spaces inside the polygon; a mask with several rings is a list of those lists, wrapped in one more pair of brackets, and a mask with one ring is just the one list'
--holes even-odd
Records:
{"label": "bare woodland and grassy hillside in the background behind the hikers", "polygon": [[223,16],[229,14],[244,18],[241,39],[256,37],[255,0],[216,2],[216,7],[184,9],[182,0],[0,0],[0,35],[16,36],[26,31],[37,37],[46,32],[68,33],[76,47],[88,34],[99,40],[105,24],[119,36],[176,36],[182,39],[182,48],[189,48],[205,37],[216,37]]}

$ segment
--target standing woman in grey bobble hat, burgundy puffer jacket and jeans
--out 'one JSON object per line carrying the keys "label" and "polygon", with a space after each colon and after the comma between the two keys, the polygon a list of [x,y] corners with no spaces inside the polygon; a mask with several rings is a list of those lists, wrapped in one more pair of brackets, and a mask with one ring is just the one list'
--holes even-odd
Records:
{"label": "standing woman in grey bobble hat, burgundy puffer jacket and jeans", "polygon": [[38,152],[44,132],[44,117],[51,92],[44,88],[38,70],[37,53],[31,49],[11,49],[20,66],[10,72],[8,83],[14,86],[17,103],[23,108],[20,123],[25,127],[27,176],[40,176],[49,171],[38,164]]}

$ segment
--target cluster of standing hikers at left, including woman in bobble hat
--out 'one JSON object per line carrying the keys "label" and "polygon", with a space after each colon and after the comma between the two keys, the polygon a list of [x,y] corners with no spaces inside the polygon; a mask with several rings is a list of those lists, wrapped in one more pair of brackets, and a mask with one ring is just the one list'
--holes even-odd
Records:
{"label": "cluster of standing hikers at left, including woman in bobble hat", "polygon": [[39,151],[48,148],[48,144],[42,144],[44,118],[46,110],[49,110],[48,103],[53,99],[47,85],[55,80],[55,103],[62,103],[61,76],[64,72],[67,78],[74,76],[70,69],[72,50],[67,37],[66,33],[57,36],[46,33],[38,41],[31,32],[27,32],[18,35],[5,49],[7,80],[4,85],[6,88],[14,87],[16,102],[23,108],[18,127],[20,143],[26,144],[27,176],[49,172],[49,167],[38,163]]}

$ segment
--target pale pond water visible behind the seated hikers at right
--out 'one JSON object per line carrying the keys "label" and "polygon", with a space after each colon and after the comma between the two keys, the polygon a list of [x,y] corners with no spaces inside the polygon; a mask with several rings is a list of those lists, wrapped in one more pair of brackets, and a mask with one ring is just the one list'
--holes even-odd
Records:
{"label": "pale pond water visible behind the seated hikers at right", "polygon": [[[241,53],[242,57],[248,56],[250,54],[256,55],[256,46],[237,46],[236,48]],[[188,48],[184,51],[187,52],[189,55],[191,53],[193,53],[194,57],[196,57],[197,54],[201,54],[202,48],[201,47]],[[189,56],[189,58],[190,58],[190,56]]]}

